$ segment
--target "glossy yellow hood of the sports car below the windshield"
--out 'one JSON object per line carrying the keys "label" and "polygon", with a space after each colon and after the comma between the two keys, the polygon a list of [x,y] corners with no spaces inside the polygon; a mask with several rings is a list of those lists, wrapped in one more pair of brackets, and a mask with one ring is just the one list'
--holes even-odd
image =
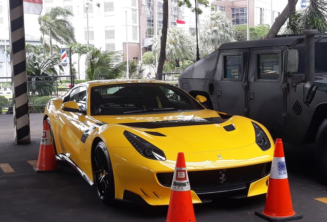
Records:
{"label": "glossy yellow hood of the sports car below the windshield", "polygon": [[[223,119],[213,110],[135,116],[99,116],[115,125],[115,132],[129,131],[165,152],[234,150],[255,143],[251,120],[241,116]],[[119,130],[117,130],[117,127]],[[114,144],[116,147],[121,144]],[[259,149],[259,147],[258,147]]]}

